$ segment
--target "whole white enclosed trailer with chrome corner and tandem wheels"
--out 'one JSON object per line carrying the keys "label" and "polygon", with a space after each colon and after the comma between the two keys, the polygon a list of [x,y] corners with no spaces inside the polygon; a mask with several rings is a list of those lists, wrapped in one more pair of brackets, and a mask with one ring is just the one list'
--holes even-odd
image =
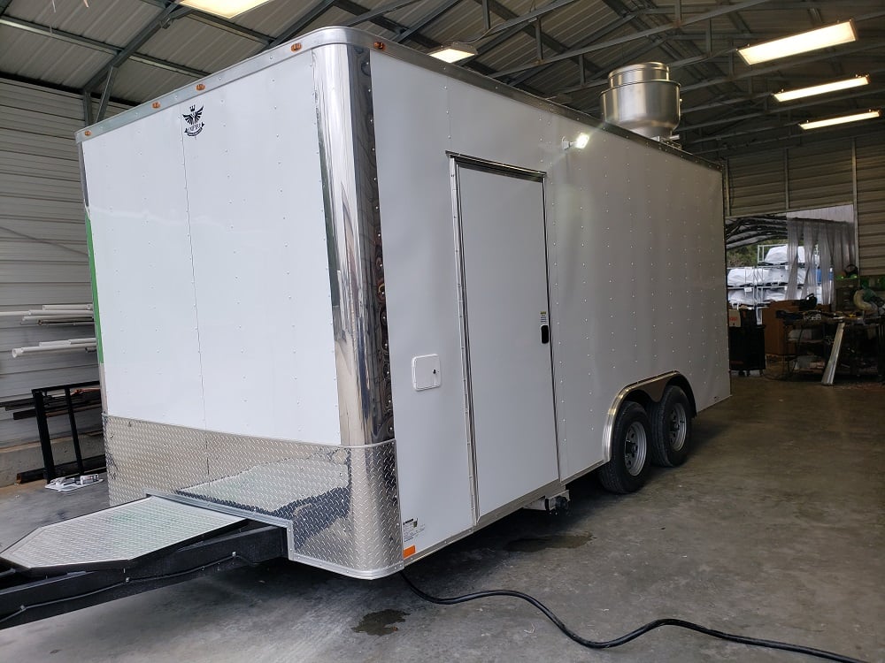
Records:
{"label": "whole white enclosed trailer with chrome corner and tandem wheels", "polygon": [[728,396],[720,171],[376,40],[319,30],[77,134],[111,500],[162,497],[140,528],[173,503],[388,575],[592,469],[635,490]]}

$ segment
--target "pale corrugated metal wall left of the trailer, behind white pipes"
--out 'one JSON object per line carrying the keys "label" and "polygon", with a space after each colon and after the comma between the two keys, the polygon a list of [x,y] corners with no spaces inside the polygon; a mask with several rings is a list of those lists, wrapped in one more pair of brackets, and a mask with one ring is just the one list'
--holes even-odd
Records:
{"label": "pale corrugated metal wall left of the trailer, behind white pipes", "polygon": [[[112,112],[121,110],[114,107]],[[73,134],[83,126],[79,95],[0,79],[0,310],[92,301],[80,165]],[[13,347],[94,336],[89,325],[21,324],[0,316],[0,401],[28,398],[31,389],[98,377],[95,354],[66,352],[12,358]],[[83,430],[97,429],[97,411],[81,413]],[[53,436],[68,434],[66,416],[50,417]],[[15,421],[0,408],[0,485],[42,468],[33,417]],[[91,439],[91,442],[90,442]],[[82,440],[101,453],[101,438]],[[73,457],[58,448],[58,462]]]}

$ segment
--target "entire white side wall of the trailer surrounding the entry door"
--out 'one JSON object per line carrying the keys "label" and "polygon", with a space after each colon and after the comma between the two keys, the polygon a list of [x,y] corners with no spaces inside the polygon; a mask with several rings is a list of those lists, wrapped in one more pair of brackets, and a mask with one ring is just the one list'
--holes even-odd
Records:
{"label": "entire white side wall of the trailer surrounding the entry door", "polygon": [[[393,58],[374,57],[372,71],[400,495],[404,520],[423,519],[420,552],[458,534],[456,473],[471,467],[447,152],[547,174],[562,480],[608,460],[607,417],[627,385],[678,371],[698,409],[727,397],[721,176]],[[587,149],[564,151],[578,133]],[[412,389],[419,354],[440,354],[440,389]]]}

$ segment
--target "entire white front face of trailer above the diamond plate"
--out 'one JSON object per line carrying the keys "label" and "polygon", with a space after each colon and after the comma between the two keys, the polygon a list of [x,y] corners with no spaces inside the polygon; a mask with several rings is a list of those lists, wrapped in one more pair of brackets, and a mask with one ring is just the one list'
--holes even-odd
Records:
{"label": "entire white front face of trailer above the diamond plate", "polygon": [[83,142],[109,415],[339,443],[313,87],[300,58]]}

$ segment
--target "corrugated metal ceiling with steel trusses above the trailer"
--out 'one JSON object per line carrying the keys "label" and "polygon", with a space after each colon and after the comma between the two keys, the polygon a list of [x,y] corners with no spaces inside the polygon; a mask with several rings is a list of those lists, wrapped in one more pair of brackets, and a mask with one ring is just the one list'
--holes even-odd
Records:
{"label": "corrugated metal ceiling with steel trusses above the trailer", "polygon": [[[882,0],[672,1],[272,0],[227,21],[173,0],[89,0],[88,6],[84,0],[0,0],[0,76],[73,90],[89,86],[97,102],[113,64],[112,98],[142,103],[274,42],[349,24],[423,51],[449,40],[472,41],[480,55],[466,67],[593,115],[607,72],[641,61],[670,64],[682,85],[683,145],[703,145],[708,156],[712,145],[725,154],[763,135],[767,141],[796,136],[804,119],[885,105]],[[554,9],[539,22],[496,29],[545,6]],[[697,20],[711,11],[723,13]],[[752,69],[735,55],[748,43],[847,19],[856,21],[857,43]],[[583,76],[576,49],[588,50]],[[871,84],[847,94],[785,107],[769,94],[861,73],[871,74]],[[874,120],[850,131],[883,126]]]}

